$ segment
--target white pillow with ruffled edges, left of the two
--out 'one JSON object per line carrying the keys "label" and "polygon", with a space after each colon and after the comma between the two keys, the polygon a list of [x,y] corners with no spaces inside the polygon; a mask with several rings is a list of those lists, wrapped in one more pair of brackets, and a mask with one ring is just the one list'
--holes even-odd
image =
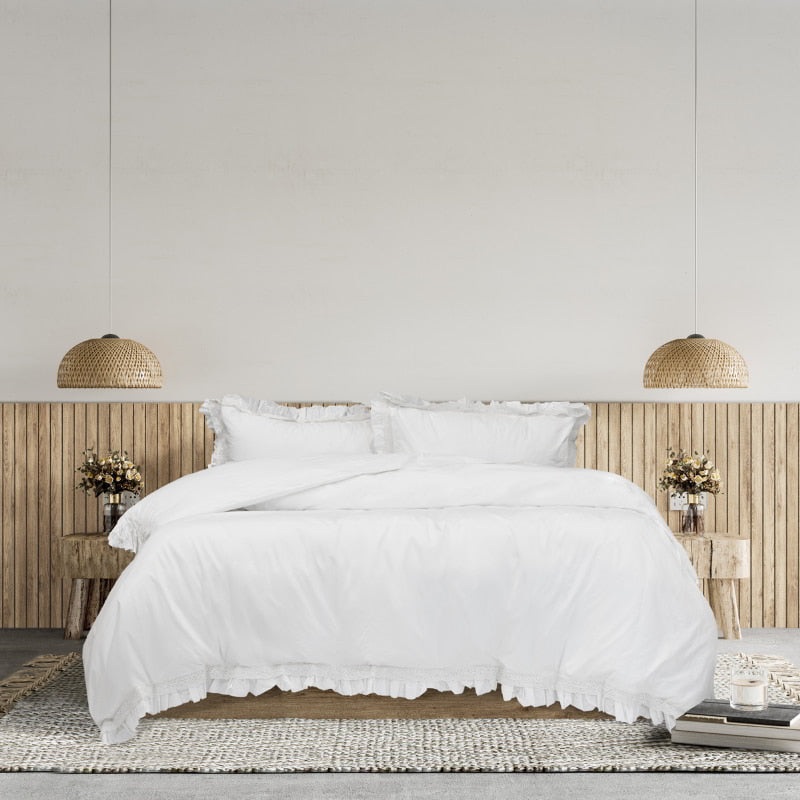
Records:
{"label": "white pillow with ruffled edges, left of the two", "polygon": [[367,406],[293,408],[225,395],[200,406],[214,431],[211,466],[250,458],[372,453]]}

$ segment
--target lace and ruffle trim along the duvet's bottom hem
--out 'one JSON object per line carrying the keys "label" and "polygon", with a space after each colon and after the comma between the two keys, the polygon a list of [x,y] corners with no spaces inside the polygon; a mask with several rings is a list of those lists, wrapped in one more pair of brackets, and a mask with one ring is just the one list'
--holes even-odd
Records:
{"label": "lace and ruffle trim along the duvet's bottom hem", "polygon": [[555,702],[581,711],[598,709],[620,722],[645,717],[654,725],[668,728],[675,719],[705,696],[700,687],[697,697],[687,699],[686,708],[650,694],[634,694],[601,683],[581,682],[551,675],[533,678],[493,667],[477,667],[454,673],[442,669],[403,669],[399,667],[337,667],[320,664],[282,664],[272,668],[209,667],[131,692],[111,719],[99,723],[106,744],[119,744],[136,733],[145,714],[158,714],[188,702],[198,702],[208,693],[245,697],[260,695],[277,687],[299,692],[313,687],[342,695],[377,694],[413,700],[428,689],[461,694],[475,689],[485,694],[500,687],[504,700],[516,699],[523,706],[549,706]]}

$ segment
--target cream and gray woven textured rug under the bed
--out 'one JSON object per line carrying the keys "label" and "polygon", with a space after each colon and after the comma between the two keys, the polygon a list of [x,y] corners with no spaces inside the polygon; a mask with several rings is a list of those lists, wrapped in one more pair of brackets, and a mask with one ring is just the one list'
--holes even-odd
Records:
{"label": "cream and gray woven textured rug under the bed", "polygon": [[[734,661],[769,670],[771,702],[800,704],[800,673],[766,656],[720,656],[718,697]],[[663,726],[608,720],[146,719],[107,746],[75,654],[0,683],[0,714],[3,772],[800,772],[800,755],[673,745]]]}

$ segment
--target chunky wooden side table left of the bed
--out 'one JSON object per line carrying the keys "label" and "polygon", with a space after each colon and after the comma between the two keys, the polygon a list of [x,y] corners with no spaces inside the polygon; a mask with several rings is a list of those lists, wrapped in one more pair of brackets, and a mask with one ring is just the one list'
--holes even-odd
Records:
{"label": "chunky wooden side table left of the bed", "polygon": [[61,576],[72,579],[65,639],[80,639],[92,627],[114,581],[132,560],[133,553],[111,547],[105,533],[61,537]]}

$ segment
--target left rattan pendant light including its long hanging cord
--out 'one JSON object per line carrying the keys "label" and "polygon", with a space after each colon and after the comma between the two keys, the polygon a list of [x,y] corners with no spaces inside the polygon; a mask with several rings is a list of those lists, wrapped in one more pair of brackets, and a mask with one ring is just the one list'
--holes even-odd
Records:
{"label": "left rattan pendant light including its long hanging cord", "polygon": [[[111,204],[111,3],[108,0],[108,327],[113,322]],[[155,353],[133,339],[107,333],[76,344],[61,359],[61,389],[160,389],[164,382]]]}

